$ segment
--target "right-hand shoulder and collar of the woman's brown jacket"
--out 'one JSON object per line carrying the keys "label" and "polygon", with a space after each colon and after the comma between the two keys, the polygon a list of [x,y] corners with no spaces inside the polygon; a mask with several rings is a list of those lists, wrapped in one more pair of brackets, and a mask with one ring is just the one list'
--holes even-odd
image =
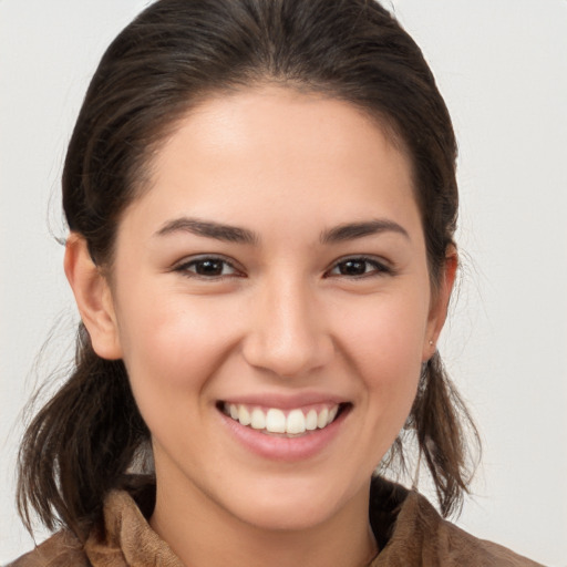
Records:
{"label": "right-hand shoulder and collar of the woman's brown jacket", "polygon": [[[382,485],[382,491],[390,483]],[[394,487],[395,497],[390,497],[389,506],[394,517],[388,542],[372,567],[542,567],[501,545],[478,539],[443,519],[416,492],[398,485],[391,486]],[[398,502],[395,511],[393,502]]]}

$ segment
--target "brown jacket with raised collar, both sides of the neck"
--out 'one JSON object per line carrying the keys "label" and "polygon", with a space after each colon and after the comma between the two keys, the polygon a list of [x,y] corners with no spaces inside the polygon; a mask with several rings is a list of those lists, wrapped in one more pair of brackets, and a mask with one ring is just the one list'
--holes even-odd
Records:
{"label": "brown jacket with raised collar, both sides of the neck", "polygon": [[[143,495],[147,502],[147,493]],[[138,498],[136,498],[138,499]],[[477,539],[444,520],[416,492],[375,480],[370,520],[381,551],[369,567],[542,567],[513,551]],[[59,532],[9,567],[183,567],[152,530],[126,491],[112,492],[104,504],[104,525],[83,545]]]}

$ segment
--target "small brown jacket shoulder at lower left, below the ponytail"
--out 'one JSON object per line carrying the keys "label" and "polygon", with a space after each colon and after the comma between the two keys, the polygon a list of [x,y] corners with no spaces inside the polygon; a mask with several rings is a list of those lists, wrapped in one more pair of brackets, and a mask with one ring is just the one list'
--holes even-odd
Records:
{"label": "small brown jacket shoulder at lower left, below the ponytail", "polygon": [[83,546],[71,533],[58,532],[7,567],[90,567]]}

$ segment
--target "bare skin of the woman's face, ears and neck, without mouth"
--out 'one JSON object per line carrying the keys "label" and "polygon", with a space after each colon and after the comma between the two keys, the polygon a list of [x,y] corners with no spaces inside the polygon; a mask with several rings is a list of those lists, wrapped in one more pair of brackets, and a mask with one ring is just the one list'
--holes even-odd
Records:
{"label": "bare skin of the woman's face, ears and neck, without mouth", "polygon": [[[93,347],[124,359],[152,433],[151,525],[192,567],[362,565],[370,477],[410,412],[456,266],[449,255],[433,295],[408,157],[346,102],[265,86],[202,103],[152,165],[110,279],[79,235],[65,256]],[[377,219],[385,229],[321,241]],[[197,274],[204,255],[228,262],[220,275]],[[218,410],[258,395],[349,411],[309,457],[267,458]]]}

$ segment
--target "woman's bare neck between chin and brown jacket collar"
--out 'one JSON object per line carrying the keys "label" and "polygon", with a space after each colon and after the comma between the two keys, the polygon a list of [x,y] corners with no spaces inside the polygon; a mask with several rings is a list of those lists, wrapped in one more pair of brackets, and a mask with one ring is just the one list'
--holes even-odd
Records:
{"label": "woman's bare neck between chin and brown jacket collar", "polygon": [[317,525],[268,529],[235,517],[193,486],[179,494],[158,482],[150,524],[186,567],[362,567],[378,550],[368,502],[365,492]]}

